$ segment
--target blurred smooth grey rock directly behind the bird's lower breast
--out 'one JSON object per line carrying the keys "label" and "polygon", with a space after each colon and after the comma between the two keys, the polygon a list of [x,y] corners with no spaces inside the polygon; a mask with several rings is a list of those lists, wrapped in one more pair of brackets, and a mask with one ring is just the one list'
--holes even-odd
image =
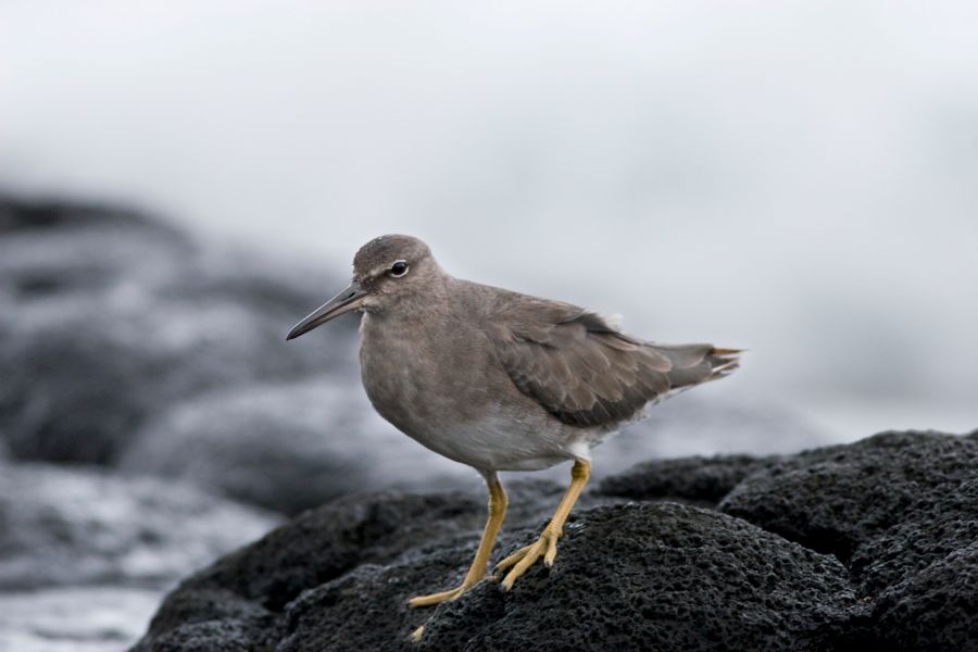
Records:
{"label": "blurred smooth grey rock directly behind the bird's lower breast", "polygon": [[380,418],[360,383],[330,376],[176,404],[141,430],[121,466],[288,514],[346,493],[482,482]]}

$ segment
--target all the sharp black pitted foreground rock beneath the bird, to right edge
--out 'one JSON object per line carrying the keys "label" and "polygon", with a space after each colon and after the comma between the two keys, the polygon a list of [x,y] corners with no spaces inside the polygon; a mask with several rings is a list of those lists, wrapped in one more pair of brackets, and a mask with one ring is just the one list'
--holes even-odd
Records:
{"label": "all the sharp black pitted foreground rock beneath the bird, to right edge", "polygon": [[[585,493],[553,568],[415,611],[461,580],[485,499],[342,498],[186,579],[136,650],[978,650],[976,439],[641,464]],[[512,484],[494,560],[560,491]]]}

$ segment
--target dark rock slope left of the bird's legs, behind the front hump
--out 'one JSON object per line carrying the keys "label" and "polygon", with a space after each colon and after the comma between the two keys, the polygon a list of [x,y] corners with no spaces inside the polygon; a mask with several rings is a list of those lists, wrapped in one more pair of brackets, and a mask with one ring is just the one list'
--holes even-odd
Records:
{"label": "dark rock slope left of the bird's legs, behind the front hump", "polygon": [[[464,496],[386,493],[346,497],[306,512],[185,580],[166,598],[138,649],[206,649],[210,630],[202,631],[200,623],[218,627],[211,641],[215,649],[224,629],[268,629],[269,614],[276,629],[285,605],[306,589],[361,563],[389,563],[408,548],[424,549],[440,537],[471,536],[484,517],[480,506]],[[192,645],[177,645],[181,640]],[[262,640],[239,649],[258,649]]]}

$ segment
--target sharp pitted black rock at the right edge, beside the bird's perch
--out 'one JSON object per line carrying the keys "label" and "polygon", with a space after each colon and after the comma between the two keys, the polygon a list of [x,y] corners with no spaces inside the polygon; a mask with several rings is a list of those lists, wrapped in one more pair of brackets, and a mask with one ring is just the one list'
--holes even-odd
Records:
{"label": "sharp pitted black rock at the right edge, beside the bird's perch", "polygon": [[883,432],[749,477],[720,510],[830,552],[874,602],[862,640],[978,650],[978,441]]}

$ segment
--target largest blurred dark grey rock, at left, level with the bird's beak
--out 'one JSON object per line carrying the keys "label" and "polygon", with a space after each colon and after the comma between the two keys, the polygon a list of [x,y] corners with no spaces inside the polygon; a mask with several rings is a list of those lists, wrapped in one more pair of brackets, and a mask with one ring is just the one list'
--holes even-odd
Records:
{"label": "largest blurred dark grey rock, at left, level with the bird's beak", "polygon": [[111,464],[177,400],[355,368],[350,321],[284,341],[340,280],[109,208],[5,198],[0,224],[0,434],[16,457]]}

